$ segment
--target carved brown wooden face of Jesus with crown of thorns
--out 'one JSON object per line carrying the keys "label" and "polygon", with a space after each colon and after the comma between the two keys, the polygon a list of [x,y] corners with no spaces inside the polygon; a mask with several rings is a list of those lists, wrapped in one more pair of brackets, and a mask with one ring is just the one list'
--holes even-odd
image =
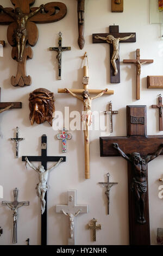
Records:
{"label": "carved brown wooden face of Jesus with crown of thorns", "polygon": [[53,93],[45,88],[39,88],[29,95],[30,123],[41,124],[45,121],[52,126],[55,111]]}

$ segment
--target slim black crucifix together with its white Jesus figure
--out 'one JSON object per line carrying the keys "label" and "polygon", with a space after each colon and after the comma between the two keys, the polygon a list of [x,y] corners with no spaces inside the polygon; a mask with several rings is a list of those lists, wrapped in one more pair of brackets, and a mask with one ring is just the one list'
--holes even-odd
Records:
{"label": "slim black crucifix together with its white Jesus figure", "polygon": [[[47,243],[47,179],[49,170],[57,167],[62,161],[66,161],[65,156],[47,156],[47,136],[42,135],[41,137],[41,156],[22,156],[22,161],[27,161],[29,166],[36,170],[39,174],[39,183],[36,186],[37,196],[40,197],[42,210],[41,215],[41,245],[46,245]],[[31,162],[41,162],[41,166],[35,167]],[[47,162],[57,162],[51,168],[47,169]]]}

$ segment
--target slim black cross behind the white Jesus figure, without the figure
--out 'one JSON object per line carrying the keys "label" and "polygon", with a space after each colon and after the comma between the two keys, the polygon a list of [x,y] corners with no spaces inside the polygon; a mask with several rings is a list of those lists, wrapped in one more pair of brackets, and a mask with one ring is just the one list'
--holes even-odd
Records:
{"label": "slim black cross behind the white Jesus figure, without the figure", "polygon": [[[47,136],[44,134],[41,137],[41,156],[27,156],[29,161],[41,162],[41,165],[47,170],[47,162],[58,162],[61,156],[47,156]],[[22,156],[22,161],[26,156]],[[66,157],[62,156],[62,162],[66,161]],[[45,194],[46,206],[45,212],[41,215],[41,245],[47,243],[47,193]]]}

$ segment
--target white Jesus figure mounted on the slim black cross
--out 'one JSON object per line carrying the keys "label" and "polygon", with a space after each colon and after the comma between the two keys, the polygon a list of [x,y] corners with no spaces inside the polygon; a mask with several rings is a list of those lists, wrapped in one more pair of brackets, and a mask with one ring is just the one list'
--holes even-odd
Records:
{"label": "white Jesus figure mounted on the slim black cross", "polygon": [[27,157],[25,158],[25,160],[29,164],[30,168],[34,169],[39,174],[39,183],[37,184],[35,189],[36,189],[37,196],[41,200],[41,214],[43,214],[43,212],[45,211],[45,205],[46,205],[46,200],[44,198],[45,198],[45,193],[48,190],[47,180],[48,180],[49,171],[57,167],[63,159],[61,157],[57,163],[53,164],[53,166],[47,170],[45,170],[43,166],[35,167],[31,162],[29,162]]}

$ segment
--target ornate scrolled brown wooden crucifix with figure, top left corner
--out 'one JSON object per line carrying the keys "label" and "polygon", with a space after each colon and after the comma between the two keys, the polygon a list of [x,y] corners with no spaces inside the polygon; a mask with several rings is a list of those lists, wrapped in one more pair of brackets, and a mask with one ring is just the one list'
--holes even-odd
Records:
{"label": "ornate scrolled brown wooden crucifix with figure, top left corner", "polygon": [[[35,46],[39,37],[36,23],[49,23],[59,21],[65,17],[67,8],[64,3],[51,2],[41,4],[39,8],[31,8],[35,0],[11,0],[15,10],[3,8],[0,5],[0,25],[9,25],[7,38],[13,47],[11,56],[16,59],[17,74],[11,77],[12,86],[30,86],[32,78],[26,75],[26,60],[32,59],[33,51],[30,46]],[[42,9],[45,13],[42,13]],[[56,13],[56,10],[59,10]],[[27,43],[30,45],[26,47]]]}

